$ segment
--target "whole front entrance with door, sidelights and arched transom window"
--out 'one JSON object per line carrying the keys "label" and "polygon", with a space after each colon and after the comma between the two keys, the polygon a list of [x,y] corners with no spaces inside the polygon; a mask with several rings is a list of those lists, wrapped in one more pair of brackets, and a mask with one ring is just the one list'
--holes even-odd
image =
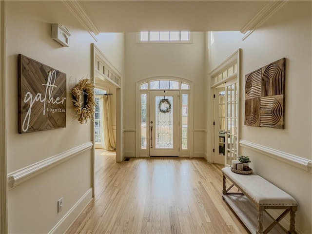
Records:
{"label": "whole front entrance with door, sidelights and arched transom window", "polygon": [[136,156],[193,157],[193,82],[144,78],[136,93]]}

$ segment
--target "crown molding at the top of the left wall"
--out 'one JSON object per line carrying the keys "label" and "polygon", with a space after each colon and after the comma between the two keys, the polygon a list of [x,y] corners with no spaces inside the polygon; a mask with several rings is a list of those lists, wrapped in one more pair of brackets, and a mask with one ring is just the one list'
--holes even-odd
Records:
{"label": "crown molding at the top of the left wall", "polygon": [[98,41],[97,35],[99,34],[98,28],[89,18],[86,11],[80,5],[78,0],[63,0],[63,3],[67,6],[67,8],[72,12],[72,14],[77,18],[77,20],[81,23],[81,25],[88,31],[88,33]]}

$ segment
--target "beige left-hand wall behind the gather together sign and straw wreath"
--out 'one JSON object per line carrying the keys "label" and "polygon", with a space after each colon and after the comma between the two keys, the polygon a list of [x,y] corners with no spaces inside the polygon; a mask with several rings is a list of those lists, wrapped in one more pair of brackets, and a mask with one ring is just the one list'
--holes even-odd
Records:
{"label": "beige left-hand wall behind the gather together sign and straw wreath", "polygon": [[[56,22],[53,16],[68,23],[65,26],[71,33],[70,47],[62,47],[51,39],[50,23]],[[8,173],[92,141],[91,121],[80,124],[74,119],[70,90],[79,79],[91,76],[91,43],[94,42],[61,1],[6,2]],[[101,34],[96,44],[123,72],[124,35]],[[18,54],[66,73],[66,128],[18,134]],[[92,152],[78,154],[11,189],[8,192],[9,233],[48,233],[62,218],[64,222],[57,230],[65,231],[91,199],[92,193],[88,191],[92,187]],[[87,196],[79,200],[84,195]],[[63,197],[63,210],[57,213],[60,197]],[[74,213],[70,213],[72,208]]]}

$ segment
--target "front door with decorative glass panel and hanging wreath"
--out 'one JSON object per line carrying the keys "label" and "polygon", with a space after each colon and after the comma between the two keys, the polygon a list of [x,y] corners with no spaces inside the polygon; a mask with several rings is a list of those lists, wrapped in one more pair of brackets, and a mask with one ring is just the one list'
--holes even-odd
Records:
{"label": "front door with decorative glass panel and hanging wreath", "polygon": [[150,93],[150,156],[179,156],[179,91]]}

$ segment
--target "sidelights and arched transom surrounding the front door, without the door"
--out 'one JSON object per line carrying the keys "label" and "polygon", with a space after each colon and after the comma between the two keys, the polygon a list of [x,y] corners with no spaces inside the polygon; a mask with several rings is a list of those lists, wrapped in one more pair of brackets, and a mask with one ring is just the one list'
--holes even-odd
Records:
{"label": "sidelights and arched transom surrounding the front door, without the door", "polygon": [[162,91],[162,93],[175,91],[178,93],[179,114],[177,121],[179,122],[179,130],[177,139],[179,152],[177,156],[193,157],[193,82],[173,76],[158,76],[137,81],[136,156],[150,156],[151,117],[149,100],[151,93],[156,91]]}

